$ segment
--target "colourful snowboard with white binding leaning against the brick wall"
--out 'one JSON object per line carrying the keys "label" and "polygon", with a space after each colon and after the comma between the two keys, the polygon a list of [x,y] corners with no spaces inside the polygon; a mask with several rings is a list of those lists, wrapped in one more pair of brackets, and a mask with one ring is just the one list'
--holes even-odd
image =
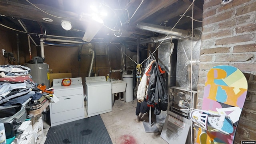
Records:
{"label": "colourful snowboard with white binding leaning against the brick wall", "polygon": [[195,144],[233,144],[247,86],[238,68],[221,65],[209,70],[202,110],[191,112],[191,119],[200,127]]}

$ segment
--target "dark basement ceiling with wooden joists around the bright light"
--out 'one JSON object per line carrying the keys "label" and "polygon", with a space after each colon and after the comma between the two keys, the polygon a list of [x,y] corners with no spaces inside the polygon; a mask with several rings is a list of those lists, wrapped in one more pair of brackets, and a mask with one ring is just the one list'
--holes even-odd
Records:
{"label": "dark basement ceiling with wooden joists around the bright light", "polygon": [[[34,4],[34,6],[30,3]],[[126,42],[159,36],[160,34],[140,30],[139,22],[173,27],[192,3],[192,0],[94,0],[100,9],[106,9],[108,16],[103,19],[105,26],[94,37],[100,42]],[[194,2],[194,19],[202,20],[204,0]],[[57,36],[83,37],[91,16],[91,0],[0,0],[0,23],[22,30],[17,19],[24,21],[28,32],[40,32]],[[41,10],[39,10],[38,8]],[[125,10],[126,8],[126,10]],[[43,12],[43,11],[44,12]],[[48,14],[46,14],[48,13]],[[51,16],[53,15],[53,16]],[[176,24],[176,28],[191,29],[192,7]],[[42,20],[50,18],[53,22]],[[131,18],[130,21],[128,18]],[[1,21],[2,20],[2,21]],[[69,31],[61,27],[62,20],[72,24]],[[122,25],[121,23],[122,22]],[[202,22],[194,21],[194,28],[202,26]],[[115,33],[113,32],[115,30]],[[122,34],[119,37],[118,34]]]}

